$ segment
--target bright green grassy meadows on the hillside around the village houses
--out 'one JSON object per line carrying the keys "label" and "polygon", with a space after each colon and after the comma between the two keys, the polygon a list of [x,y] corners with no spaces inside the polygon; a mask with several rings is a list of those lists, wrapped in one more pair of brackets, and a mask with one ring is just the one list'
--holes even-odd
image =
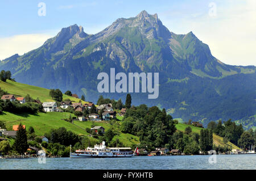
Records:
{"label": "bright green grassy meadows on the hillside around the village houses", "polygon": [[[32,98],[36,99],[39,98],[42,102],[45,101],[52,101],[51,97],[48,95],[49,90],[44,89],[41,87],[36,86],[30,86],[23,83],[13,82],[7,80],[7,82],[0,81],[0,87],[1,89],[9,92],[10,94],[19,95],[19,96],[25,96],[27,94],[30,94]],[[73,98],[71,96],[63,95],[63,99],[71,99],[75,102],[79,102],[80,99]],[[4,121],[6,123],[7,129],[12,129],[13,125],[17,125],[19,123],[22,123],[23,125],[26,125],[27,128],[34,127],[35,133],[38,136],[43,136],[44,133],[49,132],[51,129],[56,129],[60,127],[67,128],[68,131],[72,131],[79,135],[88,135],[88,133],[85,131],[86,128],[91,128],[91,125],[93,124],[92,121],[73,121],[72,123],[69,123],[64,119],[64,117],[69,116],[70,113],[63,113],[63,112],[47,112],[47,113],[36,113],[35,115],[30,115],[27,113],[24,113],[22,115],[18,115],[15,113],[10,113],[4,111],[2,115],[0,115],[0,120]],[[71,114],[71,116],[75,116]],[[122,117],[118,117],[118,120],[122,120]],[[112,125],[108,121],[101,121],[96,122],[94,125],[96,126],[102,126],[105,128],[105,131],[108,129],[113,129],[117,135],[113,138],[114,140],[118,138],[119,141],[123,142],[126,146],[131,145],[138,145],[139,144],[139,137],[134,136],[132,134],[128,133],[122,133],[119,131],[121,121],[115,121],[115,123],[112,123]],[[178,131],[185,131],[186,127],[191,127],[192,132],[196,132],[200,134],[200,130],[203,128],[197,128],[193,127],[192,125],[187,125],[183,123],[176,124],[176,128]],[[217,136],[216,134],[213,134],[213,143],[218,146],[225,146],[230,145],[231,143],[228,142],[227,144],[224,144],[223,138],[220,136]],[[239,149],[236,145],[232,144],[233,149]]]}

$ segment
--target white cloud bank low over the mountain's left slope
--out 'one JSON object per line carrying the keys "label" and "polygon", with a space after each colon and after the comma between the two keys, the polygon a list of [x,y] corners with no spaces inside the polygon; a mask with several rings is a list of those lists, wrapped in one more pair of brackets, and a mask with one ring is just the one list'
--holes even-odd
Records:
{"label": "white cloud bank low over the mountain's left slope", "polygon": [[13,56],[15,53],[22,55],[36,49],[53,37],[48,34],[24,34],[0,38],[0,60]]}

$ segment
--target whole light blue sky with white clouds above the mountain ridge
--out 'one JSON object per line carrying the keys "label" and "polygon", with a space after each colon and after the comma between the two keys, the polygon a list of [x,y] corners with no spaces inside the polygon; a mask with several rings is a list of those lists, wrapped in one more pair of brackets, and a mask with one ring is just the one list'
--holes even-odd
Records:
{"label": "whole light blue sky with white clouds above the mountain ridge", "polygon": [[[38,15],[40,2],[46,4],[46,16]],[[40,47],[63,27],[77,24],[86,33],[97,33],[117,18],[134,17],[146,10],[157,13],[174,33],[193,31],[209,45],[213,56],[226,64],[256,65],[255,5],[254,0],[1,1],[0,60]],[[210,14],[213,8],[214,15]]]}

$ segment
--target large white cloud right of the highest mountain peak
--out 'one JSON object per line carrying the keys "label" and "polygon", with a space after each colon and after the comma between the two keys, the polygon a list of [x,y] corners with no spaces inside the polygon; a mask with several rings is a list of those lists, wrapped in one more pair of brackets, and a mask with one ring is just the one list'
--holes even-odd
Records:
{"label": "large white cloud right of the highest mountain peak", "polygon": [[[210,9],[207,3],[205,6]],[[256,65],[256,1],[229,1],[226,5],[216,1],[216,6],[217,16],[213,17],[208,11],[190,18],[180,12],[181,18],[173,20],[174,14],[165,12],[163,24],[178,34],[192,31],[225,64]]]}

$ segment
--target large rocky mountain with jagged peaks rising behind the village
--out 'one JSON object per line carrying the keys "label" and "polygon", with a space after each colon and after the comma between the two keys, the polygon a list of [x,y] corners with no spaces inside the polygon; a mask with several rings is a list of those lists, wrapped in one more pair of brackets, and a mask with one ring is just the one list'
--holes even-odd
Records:
{"label": "large rocky mountain with jagged peaks rising behind the village", "polygon": [[[241,60],[242,61],[242,60]],[[18,82],[59,88],[96,102],[100,72],[159,72],[159,97],[132,93],[132,103],[158,105],[183,121],[241,120],[256,114],[255,66],[226,65],[207,44],[189,32],[169,31],[158,15],[142,11],[119,18],[105,30],[89,35],[76,24],[63,28],[42,47],[1,61]],[[104,93],[111,99],[126,93]]]}

